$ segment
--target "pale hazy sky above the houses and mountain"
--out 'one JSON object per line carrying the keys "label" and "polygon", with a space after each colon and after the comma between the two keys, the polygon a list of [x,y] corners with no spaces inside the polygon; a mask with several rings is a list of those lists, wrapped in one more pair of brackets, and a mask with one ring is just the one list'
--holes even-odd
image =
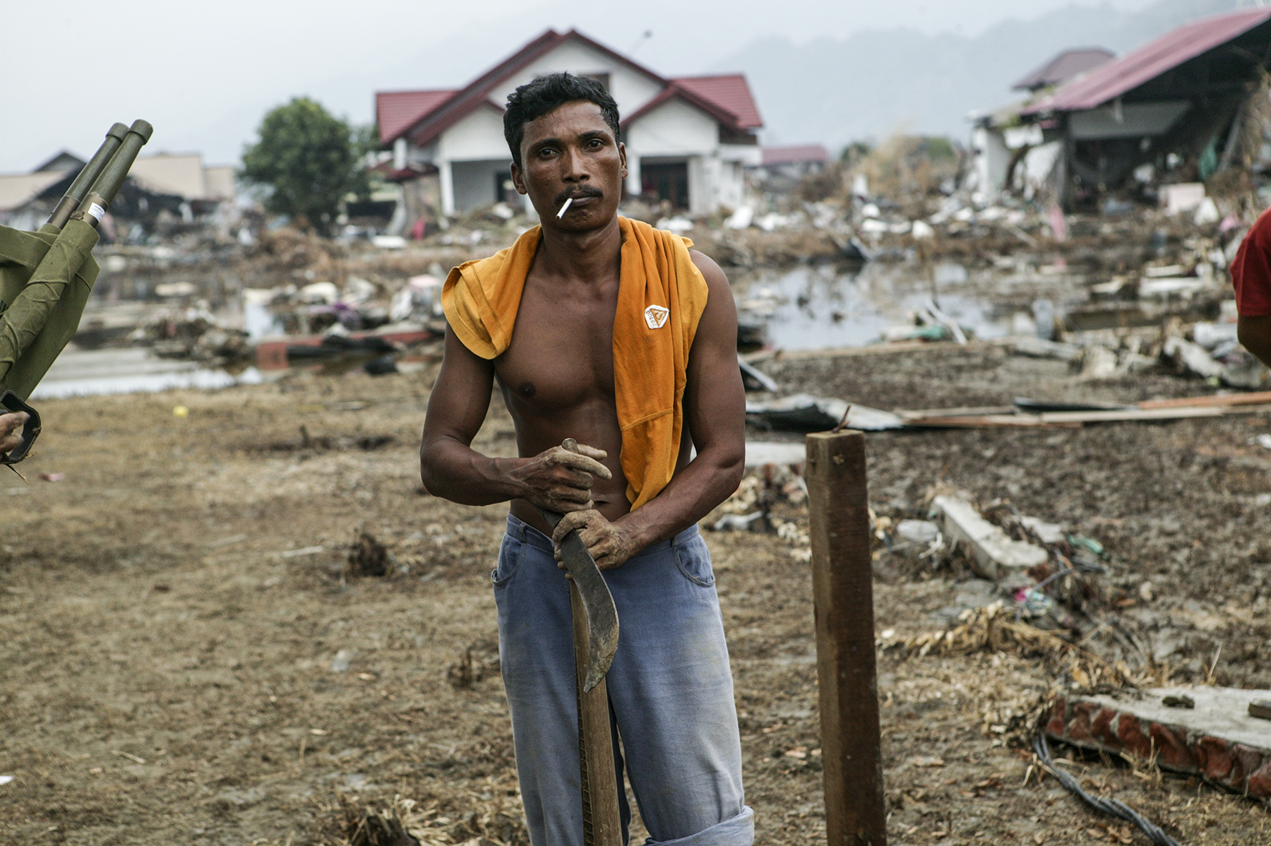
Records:
{"label": "pale hazy sky above the houses and mountain", "polygon": [[155,126],[145,152],[236,163],[263,113],[291,97],[369,122],[375,90],[461,85],[548,27],[577,27],[676,75],[764,36],[843,38],[897,27],[975,34],[1007,18],[1099,1],[641,0],[563,13],[534,0],[20,0],[5,4],[6,30],[32,37],[6,39],[0,62],[0,173],[27,171],[64,147],[86,158],[111,123],[136,118]]}

